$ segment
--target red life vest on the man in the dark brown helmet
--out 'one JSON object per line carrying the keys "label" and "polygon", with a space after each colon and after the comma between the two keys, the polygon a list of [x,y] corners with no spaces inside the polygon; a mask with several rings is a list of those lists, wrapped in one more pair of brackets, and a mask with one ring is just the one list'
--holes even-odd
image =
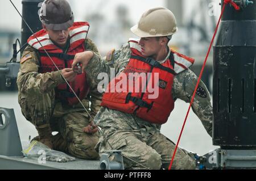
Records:
{"label": "red life vest on the man in the dark brown helmet", "polygon": [[[46,31],[40,30],[32,35],[27,42],[29,45],[31,45],[31,47],[39,50],[39,73],[57,71],[56,66],[60,70],[64,68],[71,68],[75,54],[85,51],[84,41],[88,32],[88,28],[89,24],[87,22],[75,22],[73,26],[69,28],[70,46],[66,53],[64,53],[62,49],[52,43]],[[44,49],[35,37],[38,38],[40,43],[43,45],[43,48],[47,50],[47,53],[49,54],[49,56],[51,56],[56,66],[47,56],[47,53],[44,51]],[[77,75],[75,81],[69,82],[69,85],[71,85],[72,89],[76,92],[77,96],[79,96],[80,99],[84,99],[86,95],[88,95],[89,86],[86,81],[86,73]],[[67,102],[71,106],[79,103],[79,100],[77,100],[76,96],[68,87],[67,83],[62,83],[57,86],[55,93],[57,99],[60,99],[63,102]]]}

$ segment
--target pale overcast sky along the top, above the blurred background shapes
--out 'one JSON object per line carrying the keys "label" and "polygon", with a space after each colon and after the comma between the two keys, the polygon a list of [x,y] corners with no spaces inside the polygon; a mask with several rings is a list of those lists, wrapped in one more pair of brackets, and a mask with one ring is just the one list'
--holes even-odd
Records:
{"label": "pale overcast sky along the top, above the blurred background shapes", "polygon": [[[22,11],[22,0],[12,0],[18,10]],[[68,0],[75,14],[75,20],[86,20],[86,15],[99,12],[108,20],[114,18],[114,9],[118,5],[126,5],[129,8],[131,22],[138,22],[141,14],[151,7],[166,6],[166,0]],[[180,1],[180,0],[177,0]],[[199,5],[200,0],[184,0],[184,17],[191,16],[193,7]],[[216,5],[220,0],[212,0]],[[217,11],[220,11],[220,7]],[[209,7],[208,7],[209,8]],[[209,8],[210,9],[210,8]],[[9,0],[0,1],[0,29],[20,31],[21,19]],[[37,18],[37,17],[35,17]]]}

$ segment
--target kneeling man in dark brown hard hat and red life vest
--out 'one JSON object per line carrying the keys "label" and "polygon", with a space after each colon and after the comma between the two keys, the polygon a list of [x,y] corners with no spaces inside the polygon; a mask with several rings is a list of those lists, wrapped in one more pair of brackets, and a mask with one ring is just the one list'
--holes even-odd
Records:
{"label": "kneeling man in dark brown hard hat and red life vest", "polygon": [[[44,1],[39,18],[43,30],[28,39],[29,45],[20,60],[17,84],[22,113],[38,131],[35,140],[75,157],[98,159],[94,147],[99,134],[93,129],[92,120],[100,109],[101,95],[97,87],[89,86],[92,81],[86,73],[77,74],[71,69],[76,53],[93,51],[99,55],[93,41],[86,39],[89,24],[74,23],[66,0]],[[65,80],[85,108],[88,109],[91,103],[90,115]],[[53,131],[59,133],[52,136]]]}

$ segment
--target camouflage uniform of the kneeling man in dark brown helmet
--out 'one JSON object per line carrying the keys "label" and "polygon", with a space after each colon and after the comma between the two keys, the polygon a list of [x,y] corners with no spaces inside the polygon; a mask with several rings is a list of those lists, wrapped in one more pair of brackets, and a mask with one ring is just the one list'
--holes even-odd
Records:
{"label": "camouflage uniform of the kneeling man in dark brown helmet", "polygon": [[[98,53],[96,45],[90,39],[85,40],[85,48]],[[59,71],[38,73],[39,52],[30,45],[24,50],[23,57],[29,57],[20,64],[17,79],[18,100],[23,115],[36,128],[51,125],[52,131],[59,132],[57,136],[53,136],[53,149],[83,159],[98,159],[98,153],[94,149],[98,142],[98,133],[88,134],[82,131],[82,128],[91,121],[88,113],[80,103],[69,106],[55,99],[55,87],[60,83],[65,83]],[[88,78],[87,81],[90,85],[91,80]],[[90,108],[89,113],[94,117],[101,103],[101,95],[97,91],[97,86],[90,87],[89,95],[82,100],[82,103],[87,110]]]}

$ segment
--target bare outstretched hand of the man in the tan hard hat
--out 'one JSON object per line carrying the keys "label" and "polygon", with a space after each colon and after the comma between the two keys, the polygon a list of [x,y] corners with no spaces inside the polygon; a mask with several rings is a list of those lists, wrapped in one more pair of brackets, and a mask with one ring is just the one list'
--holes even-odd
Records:
{"label": "bare outstretched hand of the man in the tan hard hat", "polygon": [[72,69],[75,70],[75,66],[80,63],[82,64],[82,73],[84,73],[84,69],[88,64],[88,62],[92,59],[92,57],[93,57],[93,52],[91,51],[77,53],[73,60]]}

